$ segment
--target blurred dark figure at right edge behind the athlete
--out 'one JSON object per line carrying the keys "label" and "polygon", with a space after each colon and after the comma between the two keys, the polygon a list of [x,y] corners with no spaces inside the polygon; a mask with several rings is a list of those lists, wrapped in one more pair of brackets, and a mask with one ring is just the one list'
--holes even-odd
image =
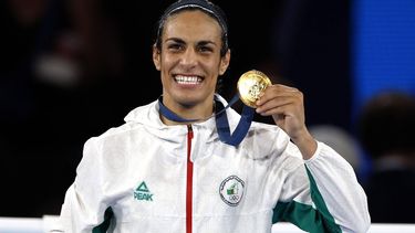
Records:
{"label": "blurred dark figure at right edge behind the athlete", "polygon": [[373,222],[415,223],[415,97],[383,91],[364,103],[359,141],[370,158],[364,180]]}

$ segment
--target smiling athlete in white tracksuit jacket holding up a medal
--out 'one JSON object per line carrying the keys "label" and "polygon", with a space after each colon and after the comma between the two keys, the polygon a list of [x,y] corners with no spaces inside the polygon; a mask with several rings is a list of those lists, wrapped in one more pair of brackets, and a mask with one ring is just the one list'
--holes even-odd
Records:
{"label": "smiling athlete in white tracksuit jacket holding up a medal", "polygon": [[[280,221],[308,232],[369,230],[353,168],[309,134],[299,89],[271,84],[247,108],[276,125],[249,123],[252,113],[217,93],[227,35],[211,2],[165,10],[153,47],[163,93],[85,142],[60,214],[64,232],[270,233]],[[247,131],[235,130],[242,119]]]}

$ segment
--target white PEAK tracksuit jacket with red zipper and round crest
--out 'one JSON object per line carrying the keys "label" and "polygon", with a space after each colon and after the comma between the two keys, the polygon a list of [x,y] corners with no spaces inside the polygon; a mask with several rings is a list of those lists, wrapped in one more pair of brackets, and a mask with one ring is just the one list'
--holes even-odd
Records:
{"label": "white PEAK tracksuit jacket with red zipper and round crest", "polygon": [[[232,130],[240,116],[227,115]],[[308,232],[370,226],[352,167],[322,142],[304,161],[279,127],[252,123],[229,146],[215,117],[164,125],[157,100],[125,120],[86,141],[62,205],[64,232],[270,233],[278,221]]]}

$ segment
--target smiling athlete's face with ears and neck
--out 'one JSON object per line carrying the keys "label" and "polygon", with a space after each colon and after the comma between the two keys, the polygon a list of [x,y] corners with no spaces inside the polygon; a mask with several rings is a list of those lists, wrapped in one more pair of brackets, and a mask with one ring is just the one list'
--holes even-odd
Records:
{"label": "smiling athlete's face with ears and neck", "polygon": [[220,54],[222,28],[197,9],[168,15],[162,21],[159,45],[156,42],[153,50],[162,75],[163,102],[184,118],[207,118],[212,114],[218,75],[225,73],[230,60],[229,51]]}

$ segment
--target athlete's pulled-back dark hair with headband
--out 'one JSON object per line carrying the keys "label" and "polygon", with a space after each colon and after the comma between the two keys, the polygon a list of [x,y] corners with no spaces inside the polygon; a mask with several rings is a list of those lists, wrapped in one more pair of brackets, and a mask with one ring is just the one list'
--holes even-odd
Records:
{"label": "athlete's pulled-back dark hair with headband", "polygon": [[166,23],[167,18],[169,18],[173,14],[176,14],[184,10],[200,10],[211,18],[214,18],[216,21],[218,21],[222,34],[221,34],[221,42],[222,46],[220,49],[220,56],[225,56],[226,52],[228,51],[228,25],[227,25],[227,19],[225,15],[225,12],[216,4],[208,0],[178,0],[174,3],[172,3],[169,7],[166,8],[164,13],[162,14],[160,19],[158,20],[158,27],[156,29],[156,35],[155,35],[155,45],[158,50],[162,50],[162,32],[164,30],[164,25]]}

